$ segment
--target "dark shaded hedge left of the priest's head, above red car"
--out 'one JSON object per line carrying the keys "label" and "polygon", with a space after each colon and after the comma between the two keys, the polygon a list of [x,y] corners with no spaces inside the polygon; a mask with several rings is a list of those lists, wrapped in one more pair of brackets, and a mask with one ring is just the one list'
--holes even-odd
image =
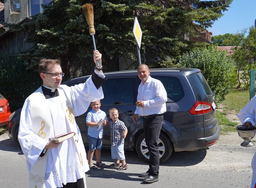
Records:
{"label": "dark shaded hedge left of the priest's head, above red car", "polygon": [[1,54],[0,93],[9,101],[11,112],[21,108],[42,80],[37,71],[26,69],[17,57]]}

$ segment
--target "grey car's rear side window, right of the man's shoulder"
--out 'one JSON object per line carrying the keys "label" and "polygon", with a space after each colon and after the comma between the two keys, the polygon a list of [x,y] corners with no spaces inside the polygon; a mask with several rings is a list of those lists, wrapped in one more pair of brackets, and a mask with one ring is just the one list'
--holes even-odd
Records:
{"label": "grey car's rear side window, right of the man's shoulder", "polygon": [[160,80],[167,92],[167,102],[177,102],[184,97],[184,91],[178,78],[154,76]]}

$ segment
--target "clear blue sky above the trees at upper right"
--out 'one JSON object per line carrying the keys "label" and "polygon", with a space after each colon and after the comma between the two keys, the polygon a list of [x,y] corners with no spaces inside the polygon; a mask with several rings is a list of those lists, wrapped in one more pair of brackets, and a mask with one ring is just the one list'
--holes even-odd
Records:
{"label": "clear blue sky above the trees at upper right", "polygon": [[241,32],[242,29],[254,27],[256,19],[256,0],[233,0],[224,16],[215,21],[207,30],[212,36],[224,35],[226,33]]}

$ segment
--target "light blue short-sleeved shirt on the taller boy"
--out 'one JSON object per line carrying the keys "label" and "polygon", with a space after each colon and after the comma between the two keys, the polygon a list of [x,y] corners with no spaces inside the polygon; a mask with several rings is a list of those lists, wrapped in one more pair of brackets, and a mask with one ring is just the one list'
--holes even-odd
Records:
{"label": "light blue short-sleeved shirt on the taller boy", "polygon": [[[95,122],[98,123],[99,120],[105,119],[107,121],[107,115],[105,112],[103,112],[101,109],[96,112],[95,110],[91,110],[88,112],[86,116],[86,123],[88,122]],[[97,130],[97,126],[89,127],[88,126],[88,135],[94,138],[102,138],[103,137],[103,125],[99,130]]]}

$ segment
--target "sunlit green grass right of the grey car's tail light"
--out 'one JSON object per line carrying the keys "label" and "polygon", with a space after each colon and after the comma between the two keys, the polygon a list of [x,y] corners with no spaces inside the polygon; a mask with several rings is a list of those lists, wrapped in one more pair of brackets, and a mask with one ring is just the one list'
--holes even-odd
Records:
{"label": "sunlit green grass right of the grey car's tail light", "polygon": [[249,91],[243,89],[232,89],[226,96],[225,101],[222,102],[224,105],[223,112],[216,111],[216,118],[220,125],[220,134],[227,134],[227,132],[236,132],[237,123],[230,121],[225,115],[229,114],[230,111],[238,113],[250,100]]}

